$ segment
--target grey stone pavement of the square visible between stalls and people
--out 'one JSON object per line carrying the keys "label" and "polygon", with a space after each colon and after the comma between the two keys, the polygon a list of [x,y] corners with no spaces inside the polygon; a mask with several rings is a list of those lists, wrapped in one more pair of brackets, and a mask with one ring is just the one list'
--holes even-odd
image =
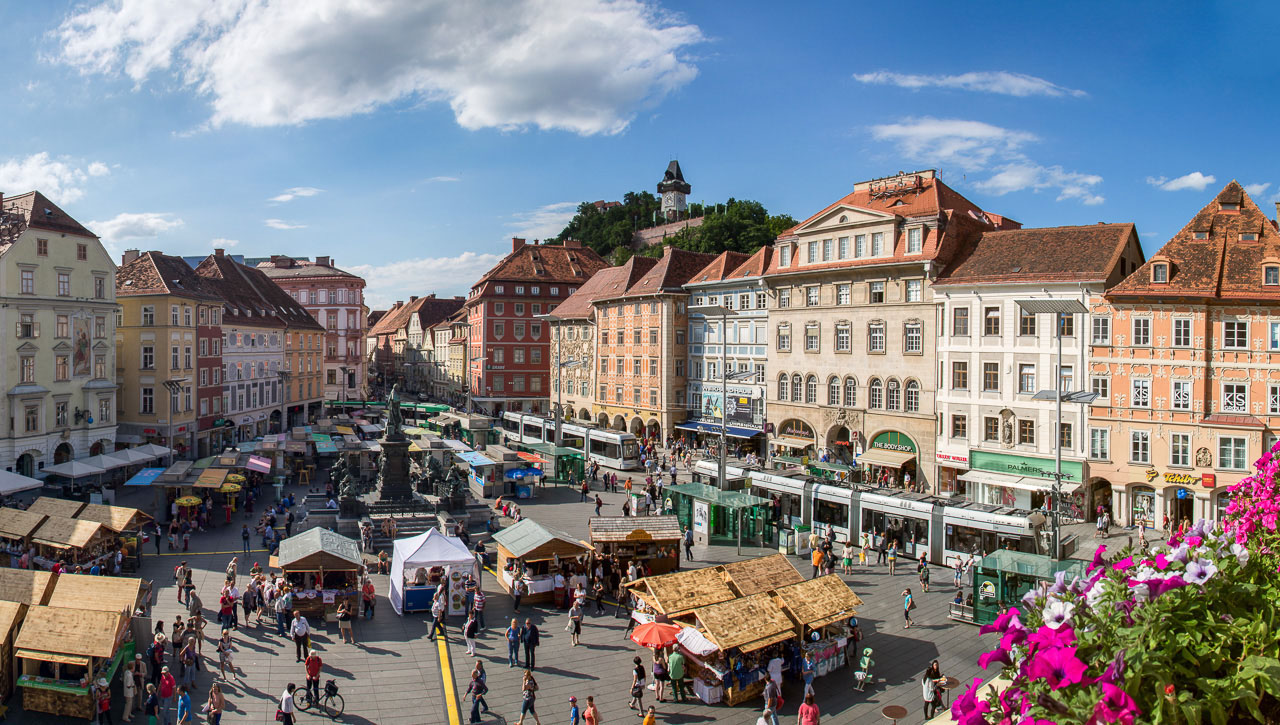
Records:
{"label": "grey stone pavement of the square visible between stalls and people", "polygon": [[[300,489],[301,491],[301,489]],[[621,514],[622,494],[602,493],[605,501],[605,515]],[[122,496],[120,505],[141,505],[142,496],[129,493]],[[539,497],[525,501],[522,511],[553,528],[586,538],[588,517],[593,514],[591,505],[580,503],[579,494],[566,488],[543,488]],[[192,551],[188,553],[163,552],[155,556],[151,548],[143,561],[141,575],[154,579],[157,584],[155,616],[172,623],[186,610],[177,602],[177,589],[173,585],[173,567],[183,558],[196,573],[197,592],[206,605],[206,616],[214,620],[206,631],[215,635],[216,612],[209,610],[210,602],[216,602],[223,571],[232,556],[239,550],[239,524],[221,526],[192,538]],[[492,551],[492,547],[490,547]],[[744,547],[737,555],[733,547],[694,547],[692,565],[704,566],[737,561],[753,556],[773,553],[769,550]],[[266,552],[253,551],[244,562],[247,571],[252,562],[266,564]],[[809,575],[810,567],[801,558],[794,560],[797,569]],[[954,589],[950,575],[937,571],[933,582],[937,584],[929,594],[918,596],[919,608],[914,612],[916,626],[902,629],[901,598],[904,587],[910,585],[919,593],[919,583],[914,573],[890,576],[884,567],[859,569],[845,580],[864,599],[859,611],[865,639],[864,647],[876,651],[874,681],[865,692],[852,688],[852,670],[844,669],[815,681],[818,705],[823,712],[823,722],[887,722],[879,716],[886,705],[902,705],[910,716],[904,722],[920,722],[920,687],[918,678],[933,658],[938,658],[942,671],[968,681],[982,676],[977,657],[992,644],[983,642],[977,628],[951,623],[946,617],[947,603]],[[472,666],[465,644],[458,633],[460,617],[449,623],[447,643],[447,665],[452,671],[454,692],[447,697],[440,667],[442,648],[425,638],[425,615],[396,616],[385,599],[388,578],[375,576],[379,592],[378,615],[372,620],[356,623],[358,644],[338,642],[337,625],[311,623],[315,628],[314,640],[325,662],[325,678],[337,680],[346,699],[346,713],[342,722],[353,724],[447,724],[466,722],[470,703],[461,702],[462,693]],[[946,585],[943,585],[946,584]],[[515,722],[520,715],[520,674],[522,670],[508,669],[502,631],[512,615],[511,598],[494,583],[492,575],[484,576],[484,587],[490,594],[486,607],[488,629],[481,634],[477,657],[484,661],[489,672],[490,693],[486,697],[493,712],[484,717],[485,722]],[[585,702],[588,694],[596,698],[605,722],[627,721],[632,711],[627,710],[631,657],[646,655],[623,637],[625,620],[614,619],[612,608],[604,616],[594,616],[588,608],[582,630],[582,644],[571,647],[564,631],[566,615],[550,611],[548,606],[525,606],[521,617],[531,617],[543,630],[543,646],[538,649],[538,669],[535,674],[540,685],[539,713],[545,722],[564,722],[568,713],[568,697],[577,696]],[[242,626],[234,634],[237,676],[223,681],[228,708],[224,722],[271,722],[275,702],[288,683],[302,684],[305,676],[302,665],[291,660],[294,656],[292,642],[274,634],[274,625],[264,620],[261,628]],[[205,643],[204,667],[214,653],[212,642]],[[645,661],[648,665],[648,660]],[[218,678],[216,657],[214,672],[207,669],[196,676],[193,702],[198,711],[205,702],[210,685]],[[221,681],[221,680],[216,680]],[[801,701],[800,687],[788,681],[783,688],[786,706],[783,722],[794,722],[796,707]],[[652,690],[646,693],[645,703],[653,703]],[[20,696],[8,703],[9,721],[31,725],[69,722],[69,719],[52,717],[42,713],[22,711]],[[113,698],[114,721],[122,721],[120,708],[123,696],[119,684]],[[696,724],[727,722],[754,725],[759,716],[759,701],[737,707],[707,706],[701,703],[658,706],[659,722]],[[320,716],[301,713],[300,722],[312,720],[320,722]],[[141,720],[141,716],[138,716]],[[174,717],[175,720],[175,717]],[[145,722],[145,720],[142,720]],[[204,722],[204,717],[197,721]],[[526,720],[532,722],[532,719]]]}

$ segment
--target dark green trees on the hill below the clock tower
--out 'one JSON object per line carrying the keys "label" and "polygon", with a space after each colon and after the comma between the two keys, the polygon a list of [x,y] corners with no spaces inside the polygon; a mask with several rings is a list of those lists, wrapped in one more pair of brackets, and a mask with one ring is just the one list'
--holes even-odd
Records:
{"label": "dark green trees on the hill below the clock tower", "polygon": [[[600,256],[614,264],[625,263],[632,254],[631,238],[635,232],[662,223],[659,216],[662,200],[649,193],[627,192],[622,205],[604,211],[594,204],[579,205],[577,214],[568,225],[556,236],[556,242],[579,240],[595,250]],[[762,246],[772,243],[785,229],[795,225],[790,215],[771,215],[759,201],[730,199],[724,204],[690,204],[690,216],[704,216],[700,227],[682,229],[667,238],[676,247],[719,254],[737,251],[751,254]],[[660,256],[662,247],[640,250],[636,254]]]}

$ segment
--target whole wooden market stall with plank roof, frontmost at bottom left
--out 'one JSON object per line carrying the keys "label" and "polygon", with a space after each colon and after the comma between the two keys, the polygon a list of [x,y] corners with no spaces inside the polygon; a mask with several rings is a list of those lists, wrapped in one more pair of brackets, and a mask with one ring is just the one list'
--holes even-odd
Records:
{"label": "whole wooden market stall with plank roof, frontmost at bottom left", "polygon": [[92,720],[92,683],[133,657],[128,624],[123,612],[31,607],[14,642],[23,710]]}

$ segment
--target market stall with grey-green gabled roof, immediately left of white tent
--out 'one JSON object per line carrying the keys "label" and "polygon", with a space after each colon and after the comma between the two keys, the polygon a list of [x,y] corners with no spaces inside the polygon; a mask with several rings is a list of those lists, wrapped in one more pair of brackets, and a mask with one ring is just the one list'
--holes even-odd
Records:
{"label": "market stall with grey-green gabled roof, immediately left of white tent", "polygon": [[360,544],[329,529],[310,529],[280,542],[273,567],[293,588],[293,608],[307,617],[335,615],[347,602],[360,611]]}

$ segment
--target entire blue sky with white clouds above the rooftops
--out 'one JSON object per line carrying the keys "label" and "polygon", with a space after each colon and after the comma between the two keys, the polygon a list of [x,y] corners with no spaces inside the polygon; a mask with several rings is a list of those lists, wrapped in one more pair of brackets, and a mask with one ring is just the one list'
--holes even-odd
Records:
{"label": "entire blue sky with white clouds above the rooftops", "polygon": [[940,168],[1148,254],[1280,192],[1266,4],[91,0],[6,4],[0,191],[115,250],[332,255],[375,306],[649,188],[804,218]]}

